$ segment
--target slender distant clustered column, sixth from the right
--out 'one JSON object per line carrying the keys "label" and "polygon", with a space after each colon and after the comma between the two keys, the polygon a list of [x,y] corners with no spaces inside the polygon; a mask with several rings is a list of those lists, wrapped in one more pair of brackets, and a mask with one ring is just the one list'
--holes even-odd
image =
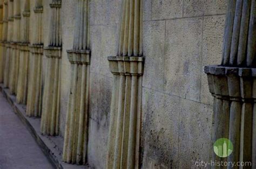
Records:
{"label": "slender distant clustered column, sixth from the right", "polygon": [[17,85],[17,103],[26,104],[29,74],[29,0],[24,3],[21,19],[21,43],[19,43],[19,70]]}

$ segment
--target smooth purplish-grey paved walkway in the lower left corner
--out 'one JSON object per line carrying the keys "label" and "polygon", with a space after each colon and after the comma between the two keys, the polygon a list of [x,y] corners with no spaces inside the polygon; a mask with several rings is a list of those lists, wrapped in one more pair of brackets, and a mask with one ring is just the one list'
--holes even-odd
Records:
{"label": "smooth purplish-grey paved walkway in the lower left corner", "polygon": [[51,169],[36,141],[0,92],[0,169]]}

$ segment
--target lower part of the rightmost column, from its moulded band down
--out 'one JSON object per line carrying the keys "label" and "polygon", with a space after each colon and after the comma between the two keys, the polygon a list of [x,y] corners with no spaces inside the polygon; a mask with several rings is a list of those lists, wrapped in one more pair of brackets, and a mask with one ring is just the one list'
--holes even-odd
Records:
{"label": "lower part of the rightmost column, from its moulded band down", "polygon": [[256,69],[212,65],[205,66],[205,73],[214,97],[213,141],[228,138],[234,150],[239,150],[232,152],[228,161],[252,161],[254,164]]}

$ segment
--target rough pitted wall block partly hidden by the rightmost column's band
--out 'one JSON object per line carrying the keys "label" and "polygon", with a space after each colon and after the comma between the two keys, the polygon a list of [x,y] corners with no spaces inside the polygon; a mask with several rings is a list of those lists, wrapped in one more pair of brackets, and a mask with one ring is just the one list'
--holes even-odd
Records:
{"label": "rough pitted wall block partly hidden by the rightmost column's band", "polygon": [[225,15],[204,17],[200,92],[200,102],[204,104],[213,104],[213,97],[208,89],[207,76],[203,71],[204,66],[221,63],[224,27]]}

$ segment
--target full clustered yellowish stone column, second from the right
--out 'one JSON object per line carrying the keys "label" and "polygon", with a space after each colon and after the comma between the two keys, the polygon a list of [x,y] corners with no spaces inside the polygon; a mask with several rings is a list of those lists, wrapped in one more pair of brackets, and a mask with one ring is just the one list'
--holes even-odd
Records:
{"label": "full clustered yellowish stone column, second from the right", "polygon": [[106,168],[138,168],[142,109],[142,1],[124,0],[113,73]]}

